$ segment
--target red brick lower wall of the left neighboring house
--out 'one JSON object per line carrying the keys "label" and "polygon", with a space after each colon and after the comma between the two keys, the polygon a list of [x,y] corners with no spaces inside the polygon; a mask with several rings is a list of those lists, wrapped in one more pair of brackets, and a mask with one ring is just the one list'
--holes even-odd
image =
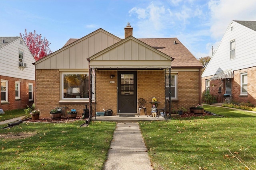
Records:
{"label": "red brick lower wall of the left neighboring house", "polygon": [[[31,106],[34,101],[28,100],[28,83],[33,83],[35,89],[35,81],[21,78],[13,78],[8,76],[0,76],[2,80],[8,80],[8,103],[1,103],[0,108],[4,111],[13,109],[25,109]],[[20,82],[20,99],[15,99],[15,82]],[[35,91],[35,90],[34,90]],[[35,94],[35,92],[33,92]],[[33,95],[34,96],[34,95]],[[1,94],[0,94],[1,97]]]}

